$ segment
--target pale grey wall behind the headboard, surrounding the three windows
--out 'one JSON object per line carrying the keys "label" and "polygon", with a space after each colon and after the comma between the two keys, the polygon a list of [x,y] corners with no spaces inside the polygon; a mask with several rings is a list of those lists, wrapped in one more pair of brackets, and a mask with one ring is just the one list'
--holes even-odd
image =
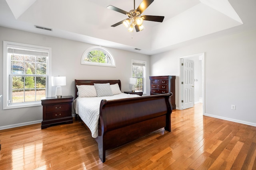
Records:
{"label": "pale grey wall behind the headboard, surrounding the three windows", "polygon": [[[129,78],[132,76],[132,59],[146,61],[147,95],[150,95],[150,57],[119,49],[107,48],[115,58],[116,67],[82,65],[81,57],[84,51],[92,44],[81,43],[26,31],[19,31],[0,27],[0,95],[3,94],[3,41],[12,41],[31,45],[52,48],[52,76],[66,76],[66,86],[62,87],[62,95],[75,95],[74,79],[87,80],[121,80],[122,92],[130,91]],[[55,87],[52,87],[52,96],[55,96]],[[14,126],[38,123],[42,121],[42,106],[20,109],[2,108],[0,98],[0,129]],[[73,109],[74,111],[74,109]]]}

